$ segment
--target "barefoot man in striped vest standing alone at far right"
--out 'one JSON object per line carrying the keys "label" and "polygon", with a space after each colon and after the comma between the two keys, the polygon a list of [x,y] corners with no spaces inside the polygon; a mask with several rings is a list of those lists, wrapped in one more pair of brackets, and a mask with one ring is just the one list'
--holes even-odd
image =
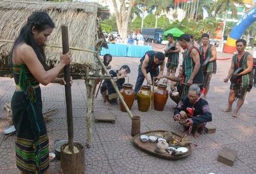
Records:
{"label": "barefoot man in striped vest standing alone at far right", "polygon": [[223,112],[231,112],[232,104],[234,101],[237,101],[237,108],[234,110],[232,116],[238,117],[238,111],[244,104],[244,98],[246,92],[250,91],[252,88],[252,65],[253,59],[252,55],[246,52],[245,49],[246,41],[244,39],[238,39],[236,41],[236,48],[238,51],[237,55],[232,57],[231,67],[228,71],[227,77],[224,79],[224,82],[227,83],[229,78],[232,76],[233,72],[238,68],[243,68],[244,70],[236,75],[236,77],[240,77],[236,82],[231,82],[230,84],[230,92],[228,96],[228,108],[222,110]]}

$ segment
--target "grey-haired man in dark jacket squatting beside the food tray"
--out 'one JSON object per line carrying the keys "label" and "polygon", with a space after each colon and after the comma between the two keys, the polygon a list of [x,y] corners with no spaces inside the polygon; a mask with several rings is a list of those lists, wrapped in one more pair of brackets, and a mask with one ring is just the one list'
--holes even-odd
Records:
{"label": "grey-haired man in dark jacket squatting beside the food tray", "polygon": [[185,119],[184,129],[180,133],[188,130],[193,132],[195,138],[204,133],[206,122],[211,121],[211,113],[208,102],[200,97],[200,88],[198,85],[191,85],[188,88],[188,95],[184,96],[174,110],[174,120]]}

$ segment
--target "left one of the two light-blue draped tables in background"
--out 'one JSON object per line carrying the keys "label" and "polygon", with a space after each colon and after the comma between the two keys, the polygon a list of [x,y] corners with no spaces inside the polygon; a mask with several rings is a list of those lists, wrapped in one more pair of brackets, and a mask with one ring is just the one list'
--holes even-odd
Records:
{"label": "left one of the two light-blue draped tables in background", "polygon": [[105,54],[111,54],[112,56],[120,56],[126,57],[127,56],[127,45],[126,44],[115,44],[115,43],[108,43],[109,49],[101,48],[99,55],[104,56]]}

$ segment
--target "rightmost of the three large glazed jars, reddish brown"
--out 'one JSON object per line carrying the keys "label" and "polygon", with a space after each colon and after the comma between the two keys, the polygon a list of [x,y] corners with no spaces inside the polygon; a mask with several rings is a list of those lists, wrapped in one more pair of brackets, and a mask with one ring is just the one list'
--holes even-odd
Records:
{"label": "rightmost of the three large glazed jars, reddish brown", "polygon": [[166,90],[167,85],[158,85],[157,89],[154,91],[154,109],[157,111],[162,111],[167,99],[168,90]]}

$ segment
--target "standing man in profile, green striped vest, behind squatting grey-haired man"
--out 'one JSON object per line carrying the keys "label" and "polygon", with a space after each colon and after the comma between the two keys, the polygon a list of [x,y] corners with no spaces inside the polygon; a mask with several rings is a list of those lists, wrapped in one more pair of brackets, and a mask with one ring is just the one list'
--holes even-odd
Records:
{"label": "standing man in profile, green striped vest, behind squatting grey-haired man", "polygon": [[179,38],[180,46],[185,50],[183,53],[183,77],[182,77],[182,95],[187,95],[188,88],[192,84],[199,85],[202,90],[203,84],[203,58],[196,46],[193,46],[190,42],[190,36],[188,34],[182,34]]}

